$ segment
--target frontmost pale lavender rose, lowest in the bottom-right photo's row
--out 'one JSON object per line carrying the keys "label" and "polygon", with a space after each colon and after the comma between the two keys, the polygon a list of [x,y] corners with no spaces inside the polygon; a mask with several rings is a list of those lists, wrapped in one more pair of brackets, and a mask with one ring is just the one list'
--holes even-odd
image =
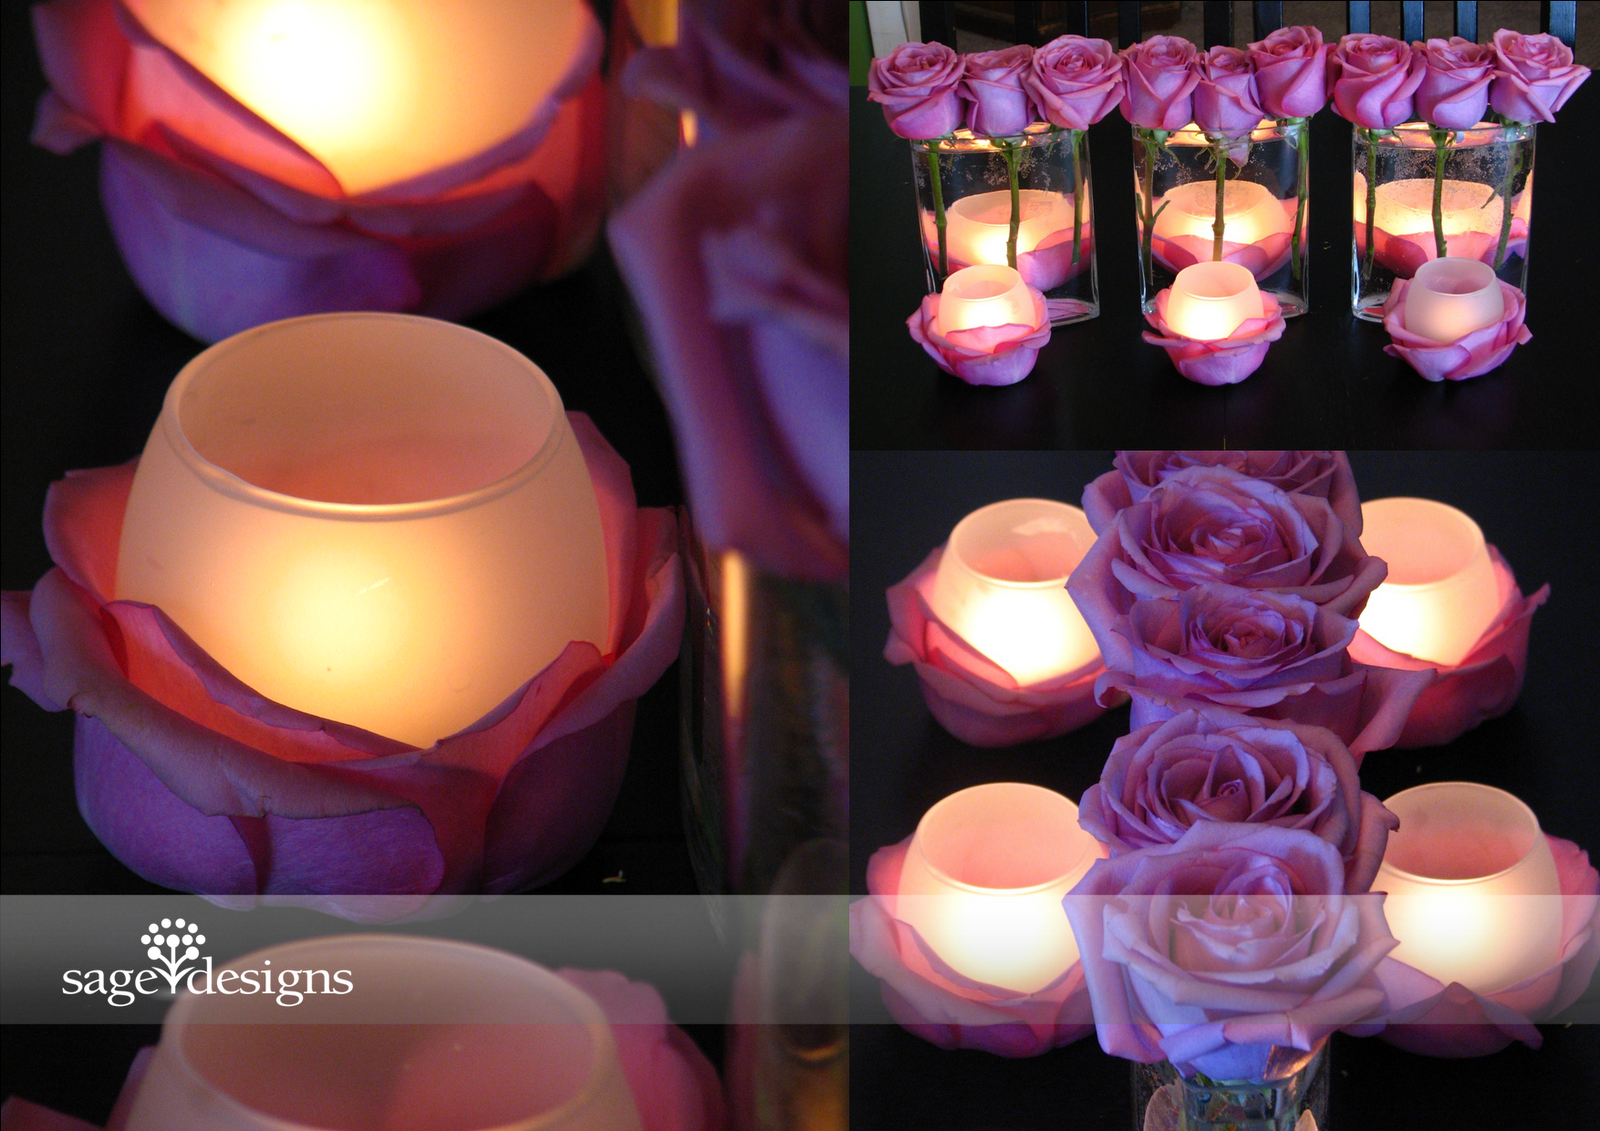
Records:
{"label": "frontmost pale lavender rose, lowest in the bottom-right photo's row", "polygon": [[1382,896],[1344,894],[1339,849],[1299,829],[1205,821],[1098,861],[1064,905],[1112,1056],[1264,1080],[1386,1008]]}

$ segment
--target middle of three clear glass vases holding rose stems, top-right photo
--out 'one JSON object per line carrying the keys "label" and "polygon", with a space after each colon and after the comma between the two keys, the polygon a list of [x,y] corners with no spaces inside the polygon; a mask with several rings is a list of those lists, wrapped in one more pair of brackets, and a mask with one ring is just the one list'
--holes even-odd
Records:
{"label": "middle of three clear glass vases holding rose stems, top-right photo", "polygon": [[1149,314],[1158,291],[1190,264],[1246,267],[1277,298],[1283,317],[1309,309],[1307,208],[1310,160],[1306,118],[1262,118],[1248,138],[1133,128],[1139,301]]}

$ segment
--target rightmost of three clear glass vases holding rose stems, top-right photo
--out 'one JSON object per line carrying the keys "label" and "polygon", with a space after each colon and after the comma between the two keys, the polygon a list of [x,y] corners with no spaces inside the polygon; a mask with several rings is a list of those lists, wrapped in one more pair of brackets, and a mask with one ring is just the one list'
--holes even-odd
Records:
{"label": "rightmost of three clear glass vases holding rose stems, top-right photo", "polygon": [[1440,256],[1482,259],[1526,291],[1533,125],[1437,130],[1411,122],[1352,136],[1350,309],[1382,320],[1397,278]]}

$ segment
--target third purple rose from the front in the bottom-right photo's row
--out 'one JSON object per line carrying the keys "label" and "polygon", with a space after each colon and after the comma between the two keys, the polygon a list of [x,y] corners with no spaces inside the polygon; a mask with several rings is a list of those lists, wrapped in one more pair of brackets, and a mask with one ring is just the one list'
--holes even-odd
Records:
{"label": "third purple rose from the front in the bottom-right photo's row", "polygon": [[1094,689],[1102,702],[1130,694],[1133,726],[1208,704],[1325,726],[1360,765],[1395,744],[1434,672],[1355,664],[1355,630],[1294,595],[1202,584],[1138,600],[1114,621]]}

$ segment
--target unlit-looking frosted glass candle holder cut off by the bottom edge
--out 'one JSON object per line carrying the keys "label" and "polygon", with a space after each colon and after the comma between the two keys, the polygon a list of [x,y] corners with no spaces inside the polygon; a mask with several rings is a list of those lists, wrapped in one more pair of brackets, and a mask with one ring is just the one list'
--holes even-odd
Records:
{"label": "unlit-looking frosted glass candle holder cut off by the bottom edge", "polygon": [[168,1011],[128,1131],[640,1126],[600,1005],[515,955],[347,934],[219,963],[210,985]]}

